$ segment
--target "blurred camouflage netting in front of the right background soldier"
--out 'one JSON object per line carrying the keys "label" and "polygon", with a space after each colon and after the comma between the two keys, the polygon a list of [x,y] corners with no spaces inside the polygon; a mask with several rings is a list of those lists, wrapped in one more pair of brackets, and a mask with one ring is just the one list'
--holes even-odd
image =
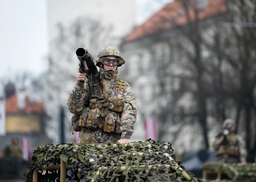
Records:
{"label": "blurred camouflage netting in front of the right background soldier", "polygon": [[241,165],[239,163],[209,162],[203,167],[203,170],[225,173],[232,181],[256,181],[256,163]]}

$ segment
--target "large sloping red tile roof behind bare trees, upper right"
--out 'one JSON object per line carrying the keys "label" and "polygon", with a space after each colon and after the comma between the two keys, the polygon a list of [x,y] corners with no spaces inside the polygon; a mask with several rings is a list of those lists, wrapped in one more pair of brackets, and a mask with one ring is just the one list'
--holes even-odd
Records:
{"label": "large sloping red tile roof behind bare trees, upper right", "polygon": [[[127,43],[140,37],[154,34],[158,31],[167,31],[173,29],[176,26],[187,24],[188,21],[186,14],[177,16],[183,9],[182,2],[184,1],[186,2],[187,0],[176,0],[174,2],[168,3],[162,10],[154,14],[150,19],[146,20],[142,25],[136,27],[128,36],[125,37],[124,42]],[[207,17],[218,15],[226,11],[226,0],[208,0],[208,5],[199,12],[198,17],[199,19],[205,19]],[[191,17],[191,20],[195,20],[193,7],[189,8],[188,13]],[[166,26],[166,24],[168,24],[168,22],[173,20],[176,16],[177,19],[175,20],[175,26]]]}

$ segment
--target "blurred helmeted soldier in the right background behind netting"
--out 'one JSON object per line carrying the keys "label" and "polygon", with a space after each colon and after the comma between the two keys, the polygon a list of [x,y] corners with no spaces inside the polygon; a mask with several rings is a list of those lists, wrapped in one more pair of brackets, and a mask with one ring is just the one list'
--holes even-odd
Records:
{"label": "blurred helmeted soldier in the right background behind netting", "polygon": [[234,120],[226,119],[222,128],[223,132],[218,134],[213,142],[218,160],[246,164],[245,142],[240,135],[235,134]]}

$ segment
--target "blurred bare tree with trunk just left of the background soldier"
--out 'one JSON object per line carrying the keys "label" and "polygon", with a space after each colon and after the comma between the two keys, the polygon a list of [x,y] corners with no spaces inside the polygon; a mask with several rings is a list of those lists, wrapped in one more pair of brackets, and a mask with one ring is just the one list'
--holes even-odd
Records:
{"label": "blurred bare tree with trunk just left of the background soldier", "polygon": [[[209,148],[207,100],[213,94],[211,89],[213,75],[210,70],[217,68],[213,64],[209,64],[209,56],[203,54],[209,51],[207,50],[208,40],[204,37],[204,34],[208,34],[207,32],[213,27],[204,21],[204,18],[207,17],[202,17],[202,14],[200,14],[204,7],[197,1],[180,0],[177,3],[179,3],[181,10],[173,19],[169,20],[169,24],[170,27],[176,29],[176,35],[178,36],[174,42],[180,54],[179,60],[174,61],[173,64],[183,71],[176,73],[173,77],[180,78],[186,85],[183,87],[183,93],[190,92],[193,95],[196,105],[190,109],[189,113],[183,113],[183,115],[194,117],[199,122],[205,148]],[[210,4],[209,6],[209,9],[218,9],[216,5],[211,7]],[[186,22],[185,25],[180,23],[181,19]],[[213,20],[210,18],[208,21],[212,22]]]}

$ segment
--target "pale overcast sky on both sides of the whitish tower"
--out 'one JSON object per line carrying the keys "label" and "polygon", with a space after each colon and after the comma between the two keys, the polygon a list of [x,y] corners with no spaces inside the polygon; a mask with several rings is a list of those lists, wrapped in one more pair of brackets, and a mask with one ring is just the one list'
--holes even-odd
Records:
{"label": "pale overcast sky on both sides of the whitish tower", "polygon": [[[160,3],[161,2],[161,3]],[[137,0],[136,24],[142,24],[170,0]],[[46,0],[0,0],[0,79],[47,69]]]}

